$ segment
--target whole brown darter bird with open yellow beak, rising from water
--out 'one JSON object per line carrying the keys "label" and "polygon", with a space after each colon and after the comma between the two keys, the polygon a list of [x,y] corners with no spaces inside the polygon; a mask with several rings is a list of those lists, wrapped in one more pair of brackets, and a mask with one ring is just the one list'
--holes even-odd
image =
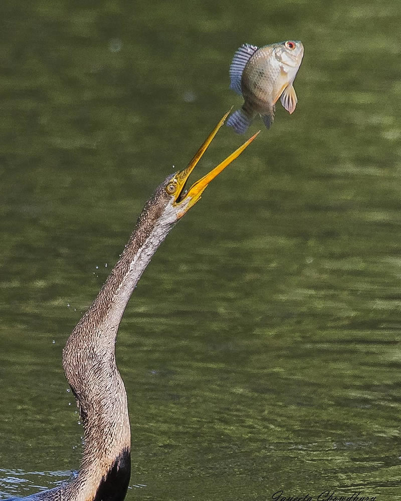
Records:
{"label": "whole brown darter bird with open yellow beak, rising from water", "polygon": [[131,475],[127,394],[115,360],[115,341],[125,307],[167,233],[237,158],[255,134],[186,190],[186,181],[223,125],[227,113],[188,166],[169,175],[145,203],[135,229],[97,298],[78,322],[63,351],[63,367],[77,401],[85,440],[76,477],[23,498],[25,501],[120,501]]}

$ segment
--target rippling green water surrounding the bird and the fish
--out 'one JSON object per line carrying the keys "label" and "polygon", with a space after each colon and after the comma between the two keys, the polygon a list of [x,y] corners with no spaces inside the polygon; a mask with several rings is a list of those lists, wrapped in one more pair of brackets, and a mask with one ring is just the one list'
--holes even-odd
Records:
{"label": "rippling green water surrounding the bird and the fish", "polygon": [[[126,310],[127,499],[401,499],[399,2],[3,0],[0,19],[0,497],[78,468],[63,345],[154,187],[240,106],[234,51],[292,38],[295,113]],[[224,128],[199,174],[241,141]]]}

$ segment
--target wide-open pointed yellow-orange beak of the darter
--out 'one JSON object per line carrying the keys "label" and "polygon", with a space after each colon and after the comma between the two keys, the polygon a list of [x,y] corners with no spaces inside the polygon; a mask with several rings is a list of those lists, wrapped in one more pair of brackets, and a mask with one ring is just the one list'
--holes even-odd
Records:
{"label": "wide-open pointed yellow-orange beak of the darter", "polygon": [[202,158],[202,155],[205,153],[205,151],[208,149],[210,143],[213,141],[213,138],[216,136],[218,130],[221,128],[221,126],[224,124],[224,121],[226,118],[229,116],[231,110],[228,111],[224,117],[220,120],[220,122],[216,125],[216,127],[213,129],[213,131],[209,134],[209,136],[206,138],[205,142],[203,143],[202,146],[197,150],[195,153],[194,157],[192,160],[189,162],[188,166],[177,172],[174,176],[174,180],[177,183],[177,195],[176,198],[173,202],[174,205],[179,205],[183,203],[184,201],[188,200],[188,203],[183,204],[185,205],[184,211],[186,212],[189,207],[194,205],[202,196],[202,193],[208,186],[208,184],[214,179],[216,176],[224,170],[227,165],[229,165],[233,160],[235,160],[241,153],[247,148],[252,141],[255,139],[255,137],[259,134],[260,131],[258,131],[255,135],[253,135],[251,138],[248,139],[242,146],[240,146],[237,150],[234,151],[230,156],[228,156],[223,162],[221,162],[217,167],[215,167],[213,170],[209,172],[209,174],[206,174],[206,176],[202,177],[198,181],[196,181],[192,186],[188,189],[188,191],[185,190],[185,183],[188,180],[188,177],[192,170],[195,168],[195,165],[198,163],[200,158]]}

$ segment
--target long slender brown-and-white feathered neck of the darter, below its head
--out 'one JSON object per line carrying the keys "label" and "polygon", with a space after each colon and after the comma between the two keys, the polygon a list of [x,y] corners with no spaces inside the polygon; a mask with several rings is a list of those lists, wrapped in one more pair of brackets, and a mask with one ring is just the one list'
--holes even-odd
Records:
{"label": "long slender brown-and-white feathered neck of the darter, below its head", "polygon": [[149,204],[63,351],[64,372],[85,430],[81,468],[66,487],[68,499],[74,501],[117,501],[128,488],[130,425],[125,387],[115,361],[115,341],[129,298],[172,227],[163,214],[150,217]]}

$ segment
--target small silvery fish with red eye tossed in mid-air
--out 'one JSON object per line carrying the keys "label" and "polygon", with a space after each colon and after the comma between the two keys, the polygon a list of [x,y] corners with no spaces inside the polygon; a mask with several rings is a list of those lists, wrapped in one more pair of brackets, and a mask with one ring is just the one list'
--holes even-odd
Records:
{"label": "small silvery fish with red eye tossed in mid-air", "polygon": [[230,88],[244,98],[242,108],[227,121],[238,134],[244,134],[259,114],[267,129],[274,121],[276,102],[291,114],[298,102],[293,82],[304,55],[299,40],[287,40],[258,48],[244,44],[230,66]]}

